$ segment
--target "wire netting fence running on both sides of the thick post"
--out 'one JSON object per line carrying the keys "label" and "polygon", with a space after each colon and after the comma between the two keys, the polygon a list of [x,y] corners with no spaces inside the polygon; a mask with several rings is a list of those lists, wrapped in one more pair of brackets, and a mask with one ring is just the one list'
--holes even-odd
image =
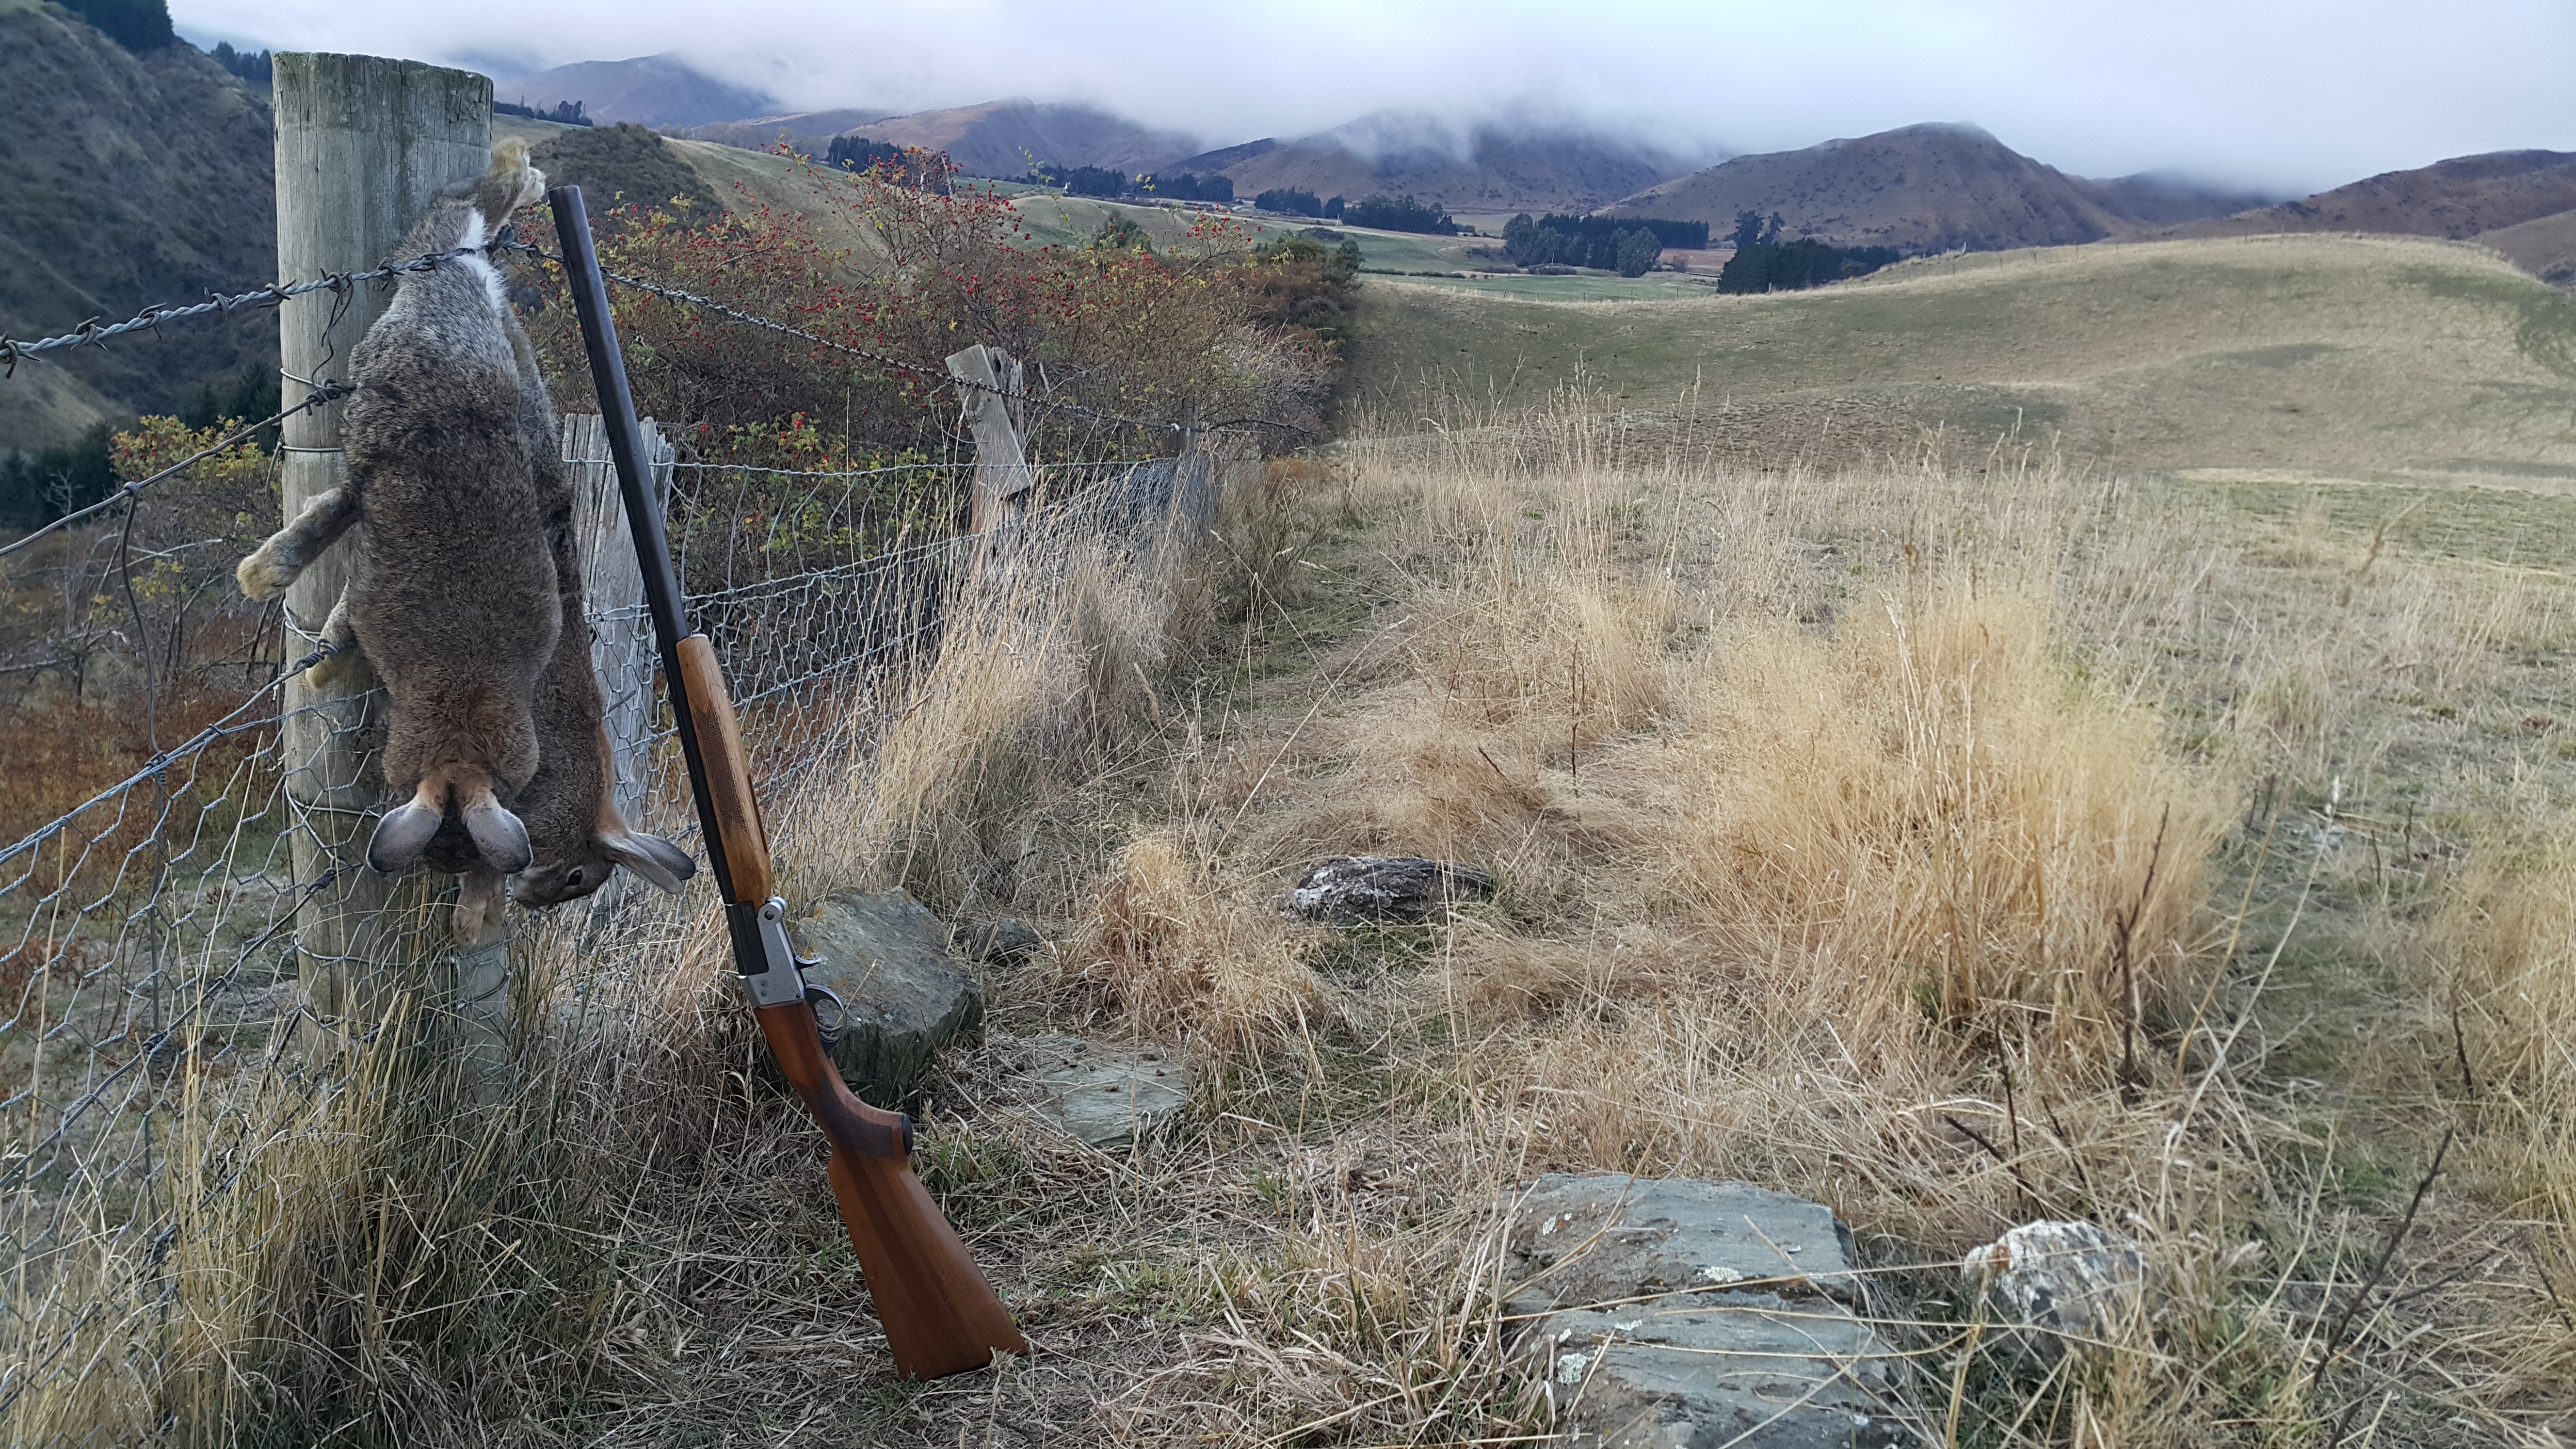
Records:
{"label": "wire netting fence running on both sides of the thick post", "polygon": [[[595,418],[567,420],[567,462],[618,802],[693,846]],[[886,498],[956,495],[971,464],[788,472],[662,449],[688,611],[724,660],[781,848],[793,851],[796,830],[781,804],[866,768],[871,743],[920,699],[961,606],[994,588],[1043,596],[1082,549],[1133,572],[1164,567],[1167,549],[1213,523],[1221,469],[1208,451],[1038,464],[1018,523],[938,536]],[[90,1385],[152,1382],[185,1351],[183,1315],[165,1305],[191,1225],[289,1145],[309,1104],[350,1088],[350,1042],[392,1026],[379,1006],[399,993],[379,987],[428,982],[459,998],[477,969],[551,951],[580,962],[567,993],[611,1003],[714,900],[701,877],[680,897],[613,884],[554,913],[513,910],[515,941],[477,964],[448,938],[451,879],[386,884],[348,864],[332,843],[381,804],[363,763],[381,696],[314,691],[314,621],[227,593],[232,562],[273,526],[265,498],[265,480],[178,477],[121,521],[8,559],[0,578],[21,616],[0,639],[0,678],[52,681],[46,699],[31,688],[13,706],[21,768],[0,781],[10,1444],[82,1441]],[[348,758],[358,779],[322,779]],[[108,1423],[88,1436],[118,1436]]]}

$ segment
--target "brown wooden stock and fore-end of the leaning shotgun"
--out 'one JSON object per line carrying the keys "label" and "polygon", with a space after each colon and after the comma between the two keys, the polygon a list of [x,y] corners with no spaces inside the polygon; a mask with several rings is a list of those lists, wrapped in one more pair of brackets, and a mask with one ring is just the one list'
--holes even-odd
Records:
{"label": "brown wooden stock and fore-end of the leaning shotgun", "polygon": [[[724,691],[724,673],[706,634],[680,639],[680,696],[698,732],[714,828],[724,843],[724,895],[734,905],[770,892],[770,846],[752,797],[742,730]],[[912,1122],[858,1101],[822,1049],[814,1008],[804,1000],[752,1011],[778,1070],[832,1140],[832,1196],[850,1227],[858,1266],[886,1328],[894,1366],[909,1379],[938,1379],[992,1364],[994,1348],[1028,1354],[1028,1338],[976,1269],[956,1227],[912,1176]]]}

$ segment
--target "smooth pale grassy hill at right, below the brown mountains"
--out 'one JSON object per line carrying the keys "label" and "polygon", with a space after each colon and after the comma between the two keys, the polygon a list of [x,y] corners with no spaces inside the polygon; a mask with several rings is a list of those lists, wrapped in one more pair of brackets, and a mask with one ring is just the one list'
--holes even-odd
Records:
{"label": "smooth pale grassy hill at right, below the brown mountains", "polygon": [[2483,248],[2241,237],[1976,253],[1775,297],[1551,304],[1370,278],[1360,405],[1522,402],[1577,369],[1739,456],[2020,428],[2146,469],[2576,485],[2576,302]]}

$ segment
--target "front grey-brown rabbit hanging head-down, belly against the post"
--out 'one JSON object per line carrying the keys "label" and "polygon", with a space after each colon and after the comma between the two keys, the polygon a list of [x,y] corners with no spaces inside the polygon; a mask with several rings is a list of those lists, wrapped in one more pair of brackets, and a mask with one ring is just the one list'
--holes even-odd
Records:
{"label": "front grey-brown rabbit hanging head-down, belly against the post", "polygon": [[[482,248],[544,188],[528,147],[502,142],[484,175],[438,193],[407,255]],[[242,590],[268,598],[363,523],[345,629],[384,681],[384,779],[410,797],[368,841],[379,871],[420,864],[443,822],[495,871],[533,859],[502,799],[538,763],[533,694],[562,634],[549,529],[572,513],[554,438],[533,436],[533,413],[554,415],[533,364],[482,255],[404,273],[350,356],[345,495],[317,498],[240,567]]]}

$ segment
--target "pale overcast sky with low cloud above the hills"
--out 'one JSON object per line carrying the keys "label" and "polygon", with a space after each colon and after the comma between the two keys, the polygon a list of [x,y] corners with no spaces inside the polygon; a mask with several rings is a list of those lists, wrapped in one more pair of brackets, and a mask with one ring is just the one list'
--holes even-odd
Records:
{"label": "pale overcast sky with low cloud above the hills", "polygon": [[1208,144],[1378,108],[1685,152],[1976,121],[2081,175],[2285,193],[2576,150],[2576,0],[173,0],[191,36],[520,72],[677,52],[786,108],[1095,101]]}

